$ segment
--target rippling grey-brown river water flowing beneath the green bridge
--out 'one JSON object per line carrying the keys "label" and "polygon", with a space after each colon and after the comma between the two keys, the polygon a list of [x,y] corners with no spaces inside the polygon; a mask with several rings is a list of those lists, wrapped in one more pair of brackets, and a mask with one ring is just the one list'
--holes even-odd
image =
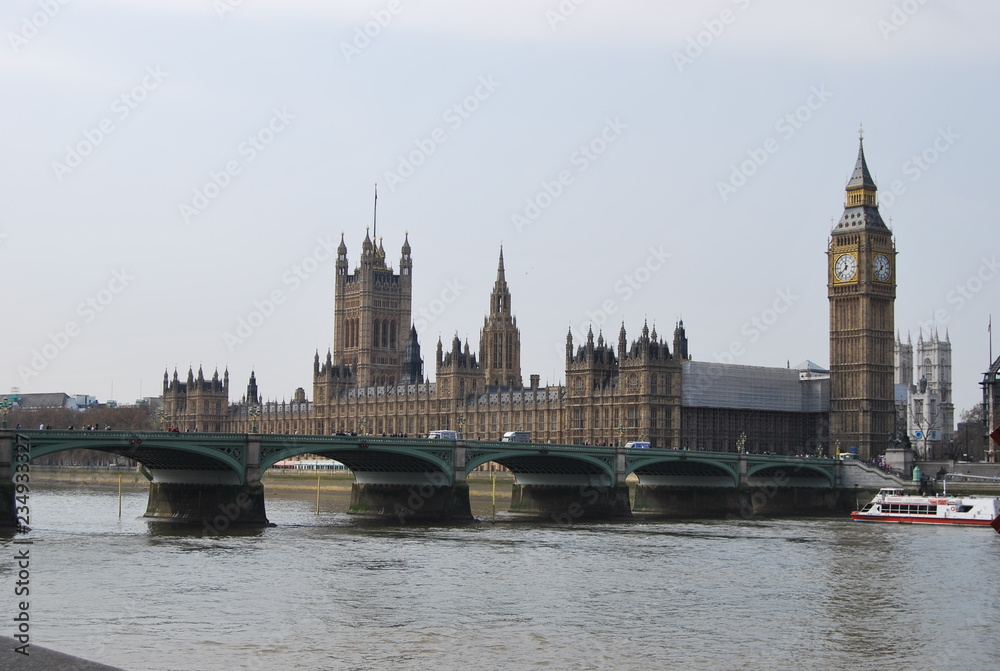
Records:
{"label": "rippling grey-brown river water flowing beneath the green bridge", "polygon": [[[133,671],[987,669],[1000,535],[842,519],[384,526],[268,493],[276,527],[31,494],[31,642]],[[488,505],[488,504],[487,504]],[[480,506],[482,508],[482,506]],[[490,511],[477,515],[489,518]],[[16,569],[0,538],[13,635]],[[25,547],[23,545],[18,548]],[[0,668],[12,668],[10,651]],[[16,667],[14,667],[16,668]]]}

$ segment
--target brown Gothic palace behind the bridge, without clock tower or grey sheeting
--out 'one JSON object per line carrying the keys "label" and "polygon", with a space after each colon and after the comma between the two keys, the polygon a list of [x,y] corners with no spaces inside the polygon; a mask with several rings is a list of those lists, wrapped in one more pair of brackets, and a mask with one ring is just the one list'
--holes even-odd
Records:
{"label": "brown Gothic palace behind the bridge, without clock tower or grey sheeting", "polygon": [[[535,442],[621,444],[649,441],[654,447],[734,450],[750,431],[750,445],[802,451],[824,412],[775,413],[780,436],[763,437],[751,419],[759,411],[740,408],[683,408],[682,365],[690,359],[683,322],[673,341],[643,325],[629,340],[624,324],[617,346],[587,334],[566,336],[565,385],[540,386],[531,375],[523,384],[521,337],[513,316],[503,252],[480,332],[479,357],[457,337],[439,340],[435,382],[423,377],[416,330],[410,326],[412,259],[403,244],[400,272],[385,263],[382,245],[366,236],[361,262],[348,274],[341,240],[337,259],[334,348],[313,359],[312,400],[299,388],[291,401],[264,401],[251,373],[247,393],[229,402],[229,374],[204,380],[189,371],[187,382],[164,375],[164,409],[181,430],[265,433],[369,433],[422,436],[452,429],[463,437],[498,440],[504,432],[531,432]],[[407,333],[403,338],[401,334]],[[719,380],[719,384],[727,384]],[[685,413],[690,417],[685,419]],[[736,418],[734,420],[734,418]],[[710,436],[685,439],[682,427],[712,426]],[[788,427],[791,427],[790,429]],[[757,441],[756,443],[754,441]]]}

